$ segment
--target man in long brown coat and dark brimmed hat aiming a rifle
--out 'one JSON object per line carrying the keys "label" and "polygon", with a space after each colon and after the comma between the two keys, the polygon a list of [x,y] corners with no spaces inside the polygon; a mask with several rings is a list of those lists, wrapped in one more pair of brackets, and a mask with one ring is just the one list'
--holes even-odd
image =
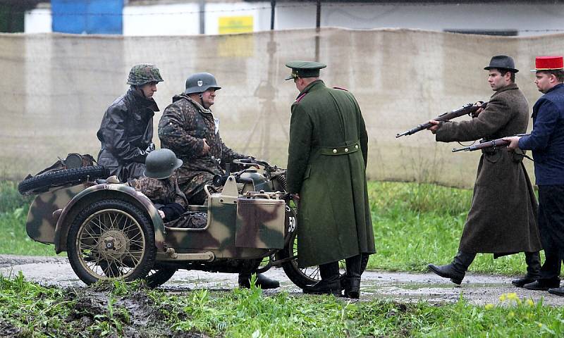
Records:
{"label": "man in long brown coat and dark brimmed hat aiming a rifle", "polygon": [[[527,131],[529,103],[515,84],[515,63],[509,56],[494,56],[488,82],[494,95],[472,120],[434,124],[429,130],[438,142],[467,142],[480,138],[498,139]],[[458,253],[448,265],[429,264],[441,277],[460,284],[476,253],[494,253],[494,258],[525,252],[527,275],[513,280],[522,287],[537,280],[540,272],[541,242],[537,227],[537,199],[525,166],[523,154],[506,149],[482,151]]]}

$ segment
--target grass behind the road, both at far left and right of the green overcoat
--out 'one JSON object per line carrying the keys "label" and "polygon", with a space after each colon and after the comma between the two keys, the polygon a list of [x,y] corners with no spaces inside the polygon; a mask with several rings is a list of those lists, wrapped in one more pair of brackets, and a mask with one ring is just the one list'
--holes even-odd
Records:
{"label": "grass behind the road, both at far left and right of the green overcoat", "polygon": [[[424,271],[427,263],[449,263],[458,250],[472,191],[435,184],[369,182],[369,201],[378,253],[368,268]],[[30,197],[13,182],[0,182],[0,253],[54,255],[54,246],[33,242],[25,232]],[[522,254],[493,259],[478,254],[470,271],[520,275]]]}

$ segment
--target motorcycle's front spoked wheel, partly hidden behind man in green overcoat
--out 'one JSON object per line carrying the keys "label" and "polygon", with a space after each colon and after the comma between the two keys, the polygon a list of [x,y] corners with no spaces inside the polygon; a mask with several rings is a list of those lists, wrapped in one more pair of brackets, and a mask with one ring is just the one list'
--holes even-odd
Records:
{"label": "motorcycle's front spoked wheel, partly hidden behind man in green overcoat", "polygon": [[[278,252],[278,259],[292,258],[290,261],[282,264],[284,273],[290,278],[290,280],[296,284],[298,287],[303,289],[307,285],[313,285],[321,280],[319,276],[319,266],[308,266],[306,268],[298,268],[298,236],[296,232],[293,233],[292,238],[287,246]],[[360,270],[364,272],[366,265],[368,263],[369,256],[362,255],[362,261],[360,263]],[[345,260],[339,261],[339,270],[341,272],[341,280],[344,278],[345,274]]]}

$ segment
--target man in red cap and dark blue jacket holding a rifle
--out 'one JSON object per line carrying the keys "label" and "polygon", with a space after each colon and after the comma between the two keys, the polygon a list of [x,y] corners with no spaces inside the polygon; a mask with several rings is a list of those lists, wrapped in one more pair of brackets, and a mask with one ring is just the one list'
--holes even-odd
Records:
{"label": "man in red cap and dark blue jacket holding a rifle", "polygon": [[539,92],[529,136],[506,137],[509,149],[530,149],[539,187],[539,229],[546,259],[541,277],[526,289],[548,290],[564,296],[560,267],[564,258],[564,62],[562,56],[539,56],[535,61]]}

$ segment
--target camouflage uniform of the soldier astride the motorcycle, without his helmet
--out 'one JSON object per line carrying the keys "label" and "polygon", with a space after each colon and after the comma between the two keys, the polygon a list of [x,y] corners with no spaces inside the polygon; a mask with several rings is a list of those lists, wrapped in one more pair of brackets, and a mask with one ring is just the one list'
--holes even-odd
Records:
{"label": "camouflage uniform of the soldier astride the motorcycle, without his helmet", "polygon": [[[172,101],[159,121],[159,139],[162,148],[171,149],[183,161],[177,169],[178,184],[190,200],[204,189],[204,184],[212,183],[214,175],[223,174],[226,163],[247,156],[223,143],[211,110],[188,94],[176,95]],[[207,154],[202,154],[204,139],[209,145]]]}

